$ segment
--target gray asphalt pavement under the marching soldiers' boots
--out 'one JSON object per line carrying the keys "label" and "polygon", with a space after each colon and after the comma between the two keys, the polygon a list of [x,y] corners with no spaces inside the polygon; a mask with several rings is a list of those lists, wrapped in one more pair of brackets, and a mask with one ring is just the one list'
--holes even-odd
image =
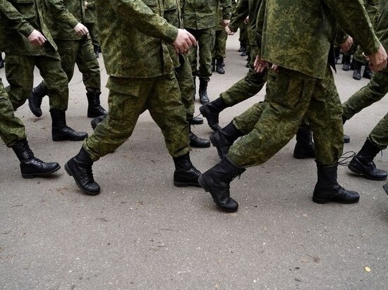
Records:
{"label": "gray asphalt pavement under the marching soldiers' boots", "polygon": [[[226,74],[214,73],[211,99],[246,73],[238,35],[229,38]],[[102,58],[102,84],[107,81]],[[41,80],[35,72],[35,84]],[[6,83],[4,69],[0,76]],[[337,65],[341,100],[368,83]],[[85,89],[77,71],[70,84],[68,125],[92,132]],[[226,109],[222,125],[257,96]],[[102,92],[107,108],[107,89]],[[196,101],[196,112],[200,106]],[[312,159],[292,156],[295,140],[267,163],[231,183],[237,213],[217,210],[202,189],[174,187],[174,163],[157,125],[144,113],[133,136],[95,163],[98,196],[81,194],[63,170],[82,142],[51,141],[48,99],[35,118],[25,103],[23,120],[35,156],[62,168],[50,178],[23,179],[11,149],[0,146],[0,287],[3,289],[387,289],[388,196],[382,185],[339,168],[339,183],[360,193],[354,205],[311,201],[316,182]],[[345,125],[358,151],[387,113],[387,99]],[[207,137],[207,125],[193,132]],[[202,172],[217,151],[193,149]],[[387,155],[375,158],[388,170]],[[368,267],[368,268],[366,268]],[[370,270],[368,272],[367,270]]]}

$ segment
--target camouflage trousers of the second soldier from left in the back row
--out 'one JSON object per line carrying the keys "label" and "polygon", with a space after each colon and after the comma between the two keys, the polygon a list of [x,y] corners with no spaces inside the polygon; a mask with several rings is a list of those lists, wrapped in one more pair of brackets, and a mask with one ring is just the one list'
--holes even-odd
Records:
{"label": "camouflage trousers of the second soldier from left in the back row", "polygon": [[55,39],[55,43],[58,46],[61,65],[67,75],[68,82],[73,78],[75,63],[77,63],[78,70],[83,75],[83,84],[85,84],[87,92],[99,91],[101,77],[92,40],[86,38],[81,40]]}

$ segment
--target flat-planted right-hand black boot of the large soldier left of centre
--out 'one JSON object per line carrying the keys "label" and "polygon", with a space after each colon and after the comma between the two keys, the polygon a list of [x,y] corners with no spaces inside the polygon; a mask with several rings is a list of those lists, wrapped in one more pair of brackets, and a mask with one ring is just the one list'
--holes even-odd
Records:
{"label": "flat-planted right-hand black boot of the large soldier left of centre", "polygon": [[201,172],[191,163],[189,153],[174,157],[173,160],[175,164],[174,185],[176,187],[200,187],[198,177]]}

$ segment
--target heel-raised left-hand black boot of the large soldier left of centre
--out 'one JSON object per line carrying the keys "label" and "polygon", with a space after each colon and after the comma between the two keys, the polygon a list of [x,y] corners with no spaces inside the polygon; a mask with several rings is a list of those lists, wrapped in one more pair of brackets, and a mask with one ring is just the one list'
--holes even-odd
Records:
{"label": "heel-raised left-hand black boot of the large soldier left of centre", "polygon": [[85,194],[95,196],[100,188],[93,178],[92,165],[89,154],[81,147],[80,152],[65,164],[65,170]]}

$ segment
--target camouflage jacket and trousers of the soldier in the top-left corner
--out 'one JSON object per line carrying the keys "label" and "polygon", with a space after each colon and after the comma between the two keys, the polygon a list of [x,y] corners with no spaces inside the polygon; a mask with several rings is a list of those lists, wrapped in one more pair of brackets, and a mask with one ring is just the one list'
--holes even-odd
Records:
{"label": "camouflage jacket and trousers of the soldier in the top-left corner", "polygon": [[[34,67],[47,82],[50,110],[66,110],[68,106],[68,81],[61,69],[61,59],[56,52],[56,44],[44,24],[47,19],[41,1],[2,0],[1,12],[8,19],[1,17],[0,25],[4,27],[6,52],[6,78],[10,84],[6,87],[13,108],[20,107],[30,96]],[[28,22],[26,21],[28,20]],[[47,42],[42,46],[32,46],[27,37],[36,29]]]}

